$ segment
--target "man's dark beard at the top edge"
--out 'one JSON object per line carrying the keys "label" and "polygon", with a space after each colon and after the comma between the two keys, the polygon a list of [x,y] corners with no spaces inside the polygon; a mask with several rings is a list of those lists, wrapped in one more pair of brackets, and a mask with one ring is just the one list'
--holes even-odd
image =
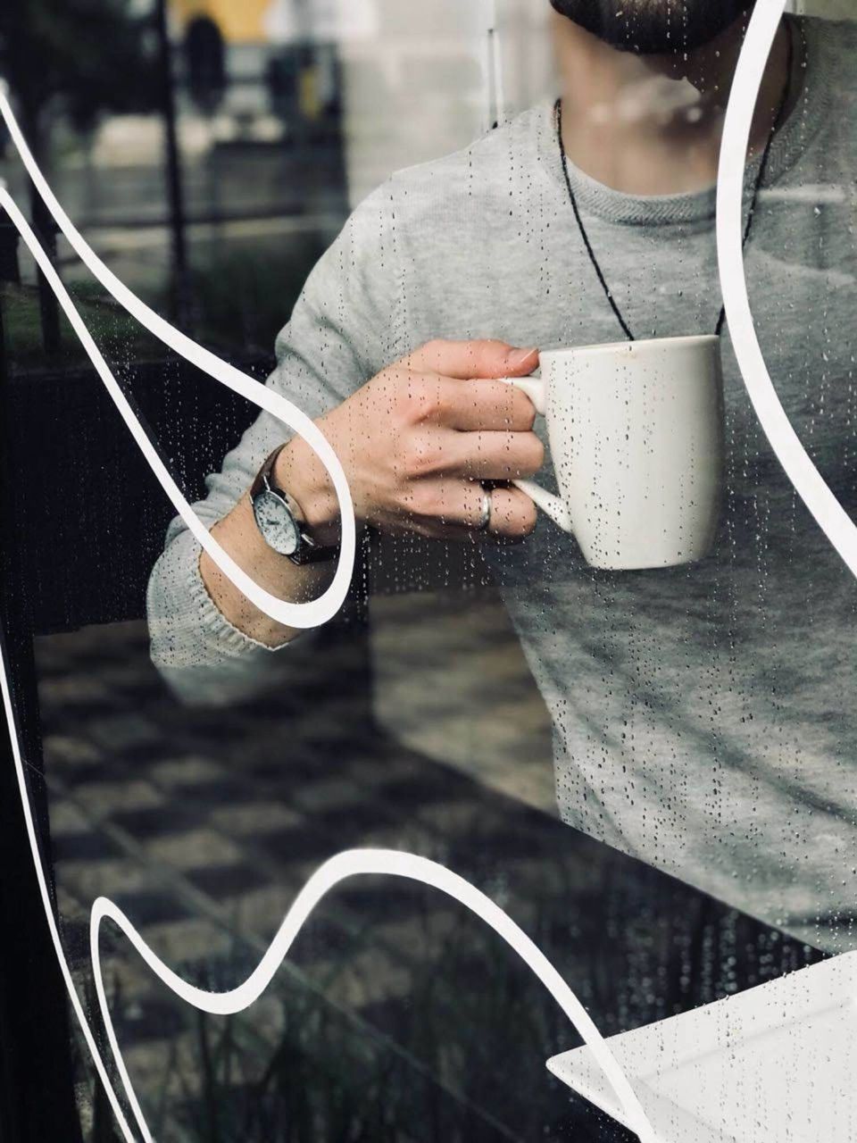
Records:
{"label": "man's dark beard at the top edge", "polygon": [[704,47],[755,0],[551,0],[587,32],[620,51],[678,55]]}

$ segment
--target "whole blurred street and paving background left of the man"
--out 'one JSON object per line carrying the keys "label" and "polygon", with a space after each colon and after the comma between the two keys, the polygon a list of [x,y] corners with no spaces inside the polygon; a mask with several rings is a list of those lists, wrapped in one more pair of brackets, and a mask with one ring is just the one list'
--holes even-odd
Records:
{"label": "whole blurred street and paving background left of the man", "polygon": [[[392,170],[466,145],[550,90],[537,7],[510,5],[498,38],[481,0],[27,0],[0,11],[0,74],[57,198],[110,269],[263,381],[350,209]],[[255,410],[104,294],[2,134],[0,176],[194,498]],[[214,986],[246,974],[301,882],[345,845],[426,853],[534,903],[553,878],[562,909],[546,712],[474,570],[465,591],[399,584],[370,626],[331,631],[321,657],[295,655],[286,703],[183,710],[149,662],[141,618],[173,510],[1,216],[0,319],[15,447],[63,491],[57,504],[47,483],[15,490],[22,558],[38,569],[16,606],[38,636],[21,673],[38,692],[57,911],[87,1004],[97,895],[121,900],[152,948]],[[543,849],[553,873],[532,861]],[[392,911],[383,886],[351,900],[351,918],[337,904],[307,930],[304,969],[296,960],[277,994],[210,1029],[105,937],[120,1039],[159,1140],[523,1138],[545,1116],[564,1120],[555,1085],[544,1114],[523,1080],[496,1105],[496,1029],[531,1022],[515,1015],[527,993],[510,991],[510,1008],[489,989],[465,1040],[444,1031],[442,997],[457,1005],[480,978],[490,940],[425,894]],[[521,920],[550,942],[553,909]],[[505,961],[497,970],[505,992]],[[104,1143],[111,1116],[73,1039],[83,1134]],[[538,1088],[554,1046],[536,1021],[516,1049]]]}

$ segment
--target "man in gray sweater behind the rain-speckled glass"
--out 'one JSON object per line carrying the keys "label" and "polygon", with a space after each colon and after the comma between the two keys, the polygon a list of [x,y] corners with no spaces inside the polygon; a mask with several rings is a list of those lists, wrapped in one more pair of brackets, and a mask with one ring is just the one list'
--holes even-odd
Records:
{"label": "man in gray sweater behind the rain-speckled glass", "polygon": [[[849,948],[855,591],[760,432],[728,331],[723,525],[713,555],[689,567],[594,572],[572,538],[536,529],[508,481],[550,462],[543,426],[495,379],[531,373],[538,350],[615,342],[624,327],[714,330],[714,181],[752,5],[552,2],[568,182],[553,103],[395,175],[311,274],[269,384],[318,418],[359,525],[482,543],[553,718],[564,821],[812,943]],[[746,248],[754,318],[786,411],[843,496],[857,415],[841,193],[857,152],[854,53],[849,25],[784,19],[745,197],[748,209],[772,139]],[[250,498],[283,440],[262,415],[198,511],[259,584],[299,601],[334,565],[279,554]],[[275,454],[266,479],[311,544],[336,544],[336,497],[303,441]],[[297,634],[200,558],[181,520],[149,612],[155,663],[198,701],[263,686]]]}

